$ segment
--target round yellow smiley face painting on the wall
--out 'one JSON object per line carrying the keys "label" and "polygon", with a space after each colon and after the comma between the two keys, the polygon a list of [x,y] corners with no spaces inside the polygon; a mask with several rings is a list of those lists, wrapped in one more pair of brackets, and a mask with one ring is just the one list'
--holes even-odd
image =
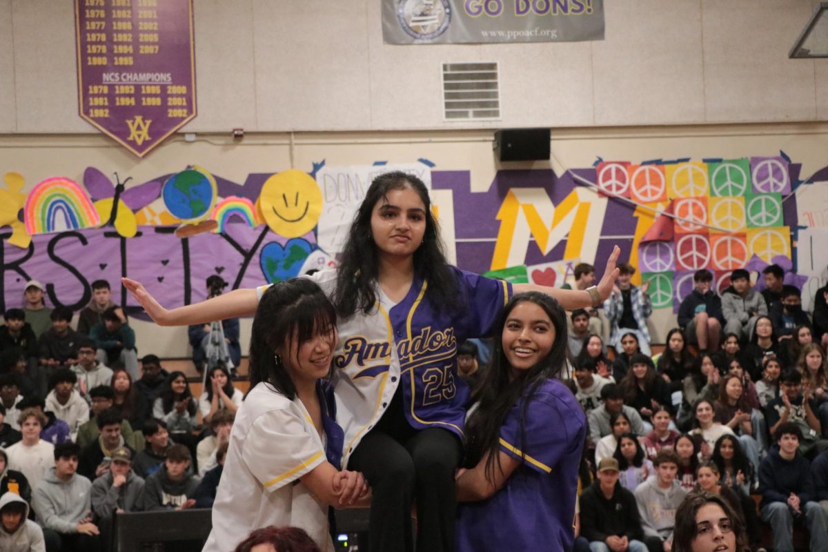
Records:
{"label": "round yellow smiley face painting on the wall", "polygon": [[306,172],[284,170],[262,185],[258,206],[273,232],[285,238],[299,238],[319,222],[322,192]]}

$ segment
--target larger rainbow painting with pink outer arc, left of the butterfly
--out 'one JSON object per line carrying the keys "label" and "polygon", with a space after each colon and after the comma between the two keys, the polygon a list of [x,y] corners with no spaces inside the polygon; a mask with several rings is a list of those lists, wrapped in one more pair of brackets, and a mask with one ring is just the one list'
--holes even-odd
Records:
{"label": "larger rainbow painting with pink outer arc, left of the butterfly", "polygon": [[47,178],[26,196],[23,207],[26,231],[34,236],[100,224],[98,211],[83,188],[63,176]]}

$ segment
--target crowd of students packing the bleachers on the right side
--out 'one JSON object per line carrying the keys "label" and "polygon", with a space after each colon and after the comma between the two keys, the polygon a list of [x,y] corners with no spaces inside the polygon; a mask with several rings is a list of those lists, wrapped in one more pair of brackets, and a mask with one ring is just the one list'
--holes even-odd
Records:
{"label": "crowd of students packing the bleachers on the right side", "polygon": [[646,284],[628,283],[633,272],[621,265],[604,303],[612,360],[587,329],[590,313],[570,314],[570,343],[580,340],[570,344],[572,389],[590,426],[575,549],[670,550],[676,511],[695,489],[733,506],[753,550],[763,550],[762,521],[773,550],[793,550],[795,522],[811,550],[828,550],[828,290],[811,317],[779,266],[763,271],[761,292],[735,270],[721,295],[696,271],[679,327],[650,358],[651,306]]}

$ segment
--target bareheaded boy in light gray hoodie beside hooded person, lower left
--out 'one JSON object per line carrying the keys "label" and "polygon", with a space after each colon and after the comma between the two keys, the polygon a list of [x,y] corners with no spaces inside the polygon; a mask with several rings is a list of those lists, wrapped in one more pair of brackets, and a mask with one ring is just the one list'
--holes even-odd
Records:
{"label": "bareheaded boy in light gray hoodie beside hooded person, lower left", "polygon": [[61,552],[100,552],[100,531],[90,517],[92,482],[75,473],[79,453],[75,443],[55,445],[55,468],[35,487],[31,505],[46,540],[56,535]]}

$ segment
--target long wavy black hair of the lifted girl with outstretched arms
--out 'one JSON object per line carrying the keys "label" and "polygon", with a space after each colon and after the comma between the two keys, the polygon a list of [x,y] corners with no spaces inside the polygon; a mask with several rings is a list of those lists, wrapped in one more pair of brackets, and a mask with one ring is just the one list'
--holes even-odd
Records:
{"label": "long wavy black hair of the lifted girl with outstretched arms", "polygon": [[371,217],[373,208],[380,201],[388,201],[390,190],[410,188],[420,196],[425,208],[426,233],[420,247],[414,252],[414,270],[417,276],[428,281],[426,298],[436,310],[452,309],[460,305],[457,283],[451,266],[445,259],[437,221],[431,214],[431,199],[422,180],[402,171],[388,172],[373,179],[365,199],[354,215],[354,222],[342,250],[341,262],[336,273],[336,289],[331,298],[343,318],[358,310],[368,314],[377,302],[377,277],[379,250],[373,241]]}

